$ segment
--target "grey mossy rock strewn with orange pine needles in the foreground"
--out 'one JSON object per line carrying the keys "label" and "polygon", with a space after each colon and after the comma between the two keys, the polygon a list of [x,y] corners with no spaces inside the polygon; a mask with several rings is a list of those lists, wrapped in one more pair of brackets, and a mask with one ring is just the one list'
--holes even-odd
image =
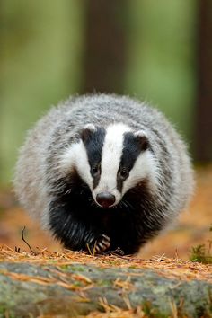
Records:
{"label": "grey mossy rock strewn with orange pine needles in the foreground", "polygon": [[0,318],[211,318],[212,268],[0,247]]}

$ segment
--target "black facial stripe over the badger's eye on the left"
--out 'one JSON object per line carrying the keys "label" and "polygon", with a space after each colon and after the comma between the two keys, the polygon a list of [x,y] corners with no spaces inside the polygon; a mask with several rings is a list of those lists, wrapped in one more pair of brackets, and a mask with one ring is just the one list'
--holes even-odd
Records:
{"label": "black facial stripe over the badger's eye on the left", "polygon": [[[104,128],[96,128],[92,134],[84,140],[84,146],[88,156],[91,169],[99,166],[102,161],[102,147],[106,131]],[[101,169],[97,175],[93,176],[93,189],[97,187],[101,177]]]}

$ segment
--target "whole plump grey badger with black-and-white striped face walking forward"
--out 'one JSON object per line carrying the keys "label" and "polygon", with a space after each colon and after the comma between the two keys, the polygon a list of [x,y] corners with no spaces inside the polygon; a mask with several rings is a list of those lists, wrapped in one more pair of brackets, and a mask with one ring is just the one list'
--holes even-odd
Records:
{"label": "whole plump grey badger with black-and-white striped face walking forward", "polygon": [[186,146],[163,114],[127,96],[53,107],[28,133],[14,189],[67,249],[138,252],[190,201]]}

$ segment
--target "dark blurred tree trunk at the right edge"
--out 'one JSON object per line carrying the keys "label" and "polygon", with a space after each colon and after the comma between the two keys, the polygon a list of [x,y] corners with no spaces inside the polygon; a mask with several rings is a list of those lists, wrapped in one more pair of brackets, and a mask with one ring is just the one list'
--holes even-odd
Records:
{"label": "dark blurred tree trunk at the right edge", "polygon": [[212,160],[212,1],[199,0],[196,159]]}

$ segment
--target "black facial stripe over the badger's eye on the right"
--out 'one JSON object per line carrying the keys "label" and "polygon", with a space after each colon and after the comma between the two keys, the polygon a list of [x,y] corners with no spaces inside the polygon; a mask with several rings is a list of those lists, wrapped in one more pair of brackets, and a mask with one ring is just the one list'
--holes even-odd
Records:
{"label": "black facial stripe over the badger's eye on the right", "polygon": [[[139,140],[134,136],[133,133],[127,132],[124,134],[124,141],[123,141],[123,150],[122,155],[120,158],[120,166],[119,170],[122,167],[127,168],[128,172],[134,166],[134,163],[137,160],[138,155],[141,153],[141,146]],[[121,192],[123,187],[123,178],[120,178],[119,172],[117,175],[117,189]]]}

